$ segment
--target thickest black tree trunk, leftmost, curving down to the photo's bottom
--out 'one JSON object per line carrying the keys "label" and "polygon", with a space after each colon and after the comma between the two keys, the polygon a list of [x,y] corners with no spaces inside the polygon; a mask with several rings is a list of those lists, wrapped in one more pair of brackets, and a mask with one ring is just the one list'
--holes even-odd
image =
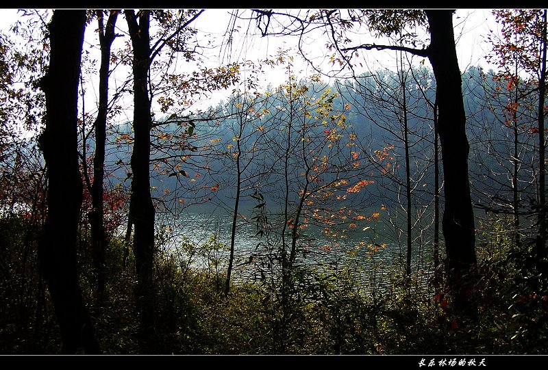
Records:
{"label": "thickest black tree trunk, leftmost, curving down to the photo's bottom", "polygon": [[78,166],[77,100],[85,10],[55,10],[49,24],[49,70],[42,77],[46,127],[40,148],[47,165],[47,218],[38,246],[42,274],[55,307],[64,350],[99,353],[94,329],[82,299],[76,242],[82,204]]}

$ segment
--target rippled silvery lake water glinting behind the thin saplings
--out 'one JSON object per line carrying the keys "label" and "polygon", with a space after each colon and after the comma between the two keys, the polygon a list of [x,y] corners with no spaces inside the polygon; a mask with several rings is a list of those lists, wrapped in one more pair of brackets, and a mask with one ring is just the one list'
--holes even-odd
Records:
{"label": "rippled silvery lake water glinting behind the thin saplings", "polygon": [[[160,234],[163,236],[162,245],[188,259],[192,265],[225,273],[229,261],[231,227],[232,216],[226,213],[188,213],[179,221],[172,221],[169,225],[164,223],[160,226]],[[386,283],[388,274],[394,274],[395,269],[404,271],[406,251],[403,244],[400,250],[397,243],[379,235],[383,229],[386,227],[382,220],[366,226],[365,230],[362,226],[330,235],[325,235],[319,227],[311,226],[306,228],[306,233],[297,242],[296,262],[323,272],[340,270],[350,264],[356,267],[356,278],[370,284],[379,284],[382,280]],[[234,280],[258,279],[261,274],[271,272],[279,265],[276,260],[279,246],[282,245],[279,235],[273,233],[267,240],[257,237],[256,233],[254,224],[239,220],[234,242]],[[429,259],[430,252],[419,251],[418,246],[414,248],[412,269],[424,278],[429,275],[427,270],[431,264],[426,259]]]}

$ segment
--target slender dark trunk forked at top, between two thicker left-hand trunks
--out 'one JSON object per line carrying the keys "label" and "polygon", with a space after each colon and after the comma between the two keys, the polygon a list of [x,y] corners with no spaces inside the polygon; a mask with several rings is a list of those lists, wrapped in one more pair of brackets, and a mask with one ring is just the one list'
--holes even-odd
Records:
{"label": "slender dark trunk forked at top, between two thicker left-hand trunks", "polygon": [[[110,47],[116,37],[114,25],[119,11],[111,10],[106,27],[103,27],[103,11],[97,10],[99,22],[99,43],[101,44],[101,67],[99,68],[99,110],[93,124],[95,128],[95,156],[93,157],[93,183],[91,186],[90,213],[91,248],[97,283],[97,296],[105,290],[105,225],[103,221],[103,179],[105,176],[105,141],[108,106],[108,72],[110,68]],[[103,29],[104,28],[104,29]]]}

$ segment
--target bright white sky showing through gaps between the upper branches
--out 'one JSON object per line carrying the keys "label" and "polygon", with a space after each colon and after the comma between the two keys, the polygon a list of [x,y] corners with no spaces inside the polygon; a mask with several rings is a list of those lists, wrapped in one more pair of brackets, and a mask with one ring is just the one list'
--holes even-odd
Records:
{"label": "bright white sky showing through gaps between the upper branches", "polygon": [[[227,30],[227,27],[229,25],[229,12],[232,11],[234,10],[208,9],[197,18],[197,21],[195,21],[194,23],[195,27],[201,29],[201,31],[209,35],[207,36],[207,38],[203,38],[203,40],[200,39],[202,44],[204,44],[207,40],[211,40],[212,44],[221,44],[221,42],[223,41],[223,34],[225,34],[225,31]],[[245,9],[239,10],[240,13],[244,11]],[[8,29],[16,18],[18,18],[16,9],[0,9],[0,29],[4,32],[8,32]],[[464,71],[467,67],[478,64],[488,68],[489,66],[486,64],[486,61],[484,59],[484,56],[488,52],[488,50],[486,50],[488,44],[485,42],[485,40],[486,36],[488,36],[490,32],[490,28],[496,28],[496,23],[494,21],[494,17],[490,13],[490,10],[458,10],[456,12],[456,16],[453,16],[453,24],[455,25],[455,36],[457,40],[456,47],[461,70]],[[246,27],[250,28],[250,33],[256,32],[256,25],[254,25],[253,23],[240,23],[240,26],[241,28],[238,29],[238,34],[240,34],[240,36],[244,36],[246,34]],[[117,27],[119,27],[119,33],[125,31],[125,28],[127,26],[123,18],[119,18]],[[97,41],[94,41],[94,39],[96,38],[88,37],[90,34],[92,34],[93,30],[95,30],[95,23],[91,23],[90,26],[88,26],[84,50],[96,50],[98,53],[99,48],[97,47]],[[319,36],[319,40],[308,40],[308,47],[310,48],[310,55],[308,56],[314,58],[314,60],[316,60],[316,58],[325,59],[326,57],[328,57],[327,51],[325,51],[325,40],[320,39],[321,36]],[[114,41],[113,49],[123,47],[126,41],[127,38],[117,38]],[[377,41],[376,43],[381,44],[382,42]],[[273,55],[277,53],[277,49],[279,49],[279,47],[288,48],[291,47],[292,44],[295,44],[295,38],[288,38],[285,36],[278,38],[235,38],[232,47],[232,56],[229,57],[226,53],[220,54],[219,49],[206,51],[206,55],[210,57],[212,66],[219,65],[219,63],[225,63],[228,61],[235,62],[241,59],[247,59],[252,60],[253,62],[257,62],[258,60],[265,59],[266,57],[273,57]],[[312,56],[312,53],[318,54]],[[395,55],[395,52],[390,53],[392,54],[390,55],[390,57],[388,57],[388,59],[386,59],[384,57],[384,55],[386,54],[382,52],[369,51],[360,55],[360,61],[363,62],[363,66],[366,68],[378,68],[384,66],[390,68],[390,63],[394,63],[393,56]],[[305,77],[306,75],[310,75],[313,73],[311,68],[309,68],[302,60],[301,62],[299,62],[299,55],[297,52],[293,53],[293,55],[295,57],[294,64],[296,66],[295,75]],[[96,59],[99,60],[99,57],[97,57]],[[323,68],[323,70],[325,71],[327,68],[329,68],[329,66]],[[300,74],[298,73],[299,70],[302,71]],[[278,70],[269,72],[269,74],[265,75],[264,77],[264,86],[266,87],[268,83],[278,85],[286,78],[284,73],[285,72],[282,68],[278,68]],[[125,79],[125,77],[121,78],[121,80],[123,79]],[[111,85],[113,84],[111,83]],[[114,83],[114,85],[116,85],[116,82]],[[112,86],[112,88],[115,87],[114,85]],[[86,92],[86,94],[91,95],[89,96],[89,98],[92,100],[96,100],[95,96],[97,96],[94,90],[97,90],[96,86],[91,86],[90,88],[88,88],[88,92]],[[206,105],[214,104],[214,101],[219,98],[218,96],[219,94],[214,95],[210,103],[207,103],[205,101],[203,103],[206,103]],[[88,98],[88,96],[86,96],[86,98]],[[86,103],[86,110],[88,110],[88,107],[92,106],[87,104],[88,103]]]}

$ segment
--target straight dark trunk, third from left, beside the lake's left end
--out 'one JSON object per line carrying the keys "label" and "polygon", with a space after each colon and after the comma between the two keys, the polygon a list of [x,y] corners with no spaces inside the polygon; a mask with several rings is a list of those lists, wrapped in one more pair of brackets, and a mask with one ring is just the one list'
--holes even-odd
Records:
{"label": "straight dark trunk, third from left, beside the lake's left end", "polygon": [[150,194],[150,131],[152,117],[147,77],[150,64],[149,11],[141,10],[139,22],[133,10],[125,10],[133,46],[134,144],[132,195],[129,215],[134,224],[134,253],[137,274],[136,308],[141,352],[149,352],[154,334],[153,252],[155,210]]}

